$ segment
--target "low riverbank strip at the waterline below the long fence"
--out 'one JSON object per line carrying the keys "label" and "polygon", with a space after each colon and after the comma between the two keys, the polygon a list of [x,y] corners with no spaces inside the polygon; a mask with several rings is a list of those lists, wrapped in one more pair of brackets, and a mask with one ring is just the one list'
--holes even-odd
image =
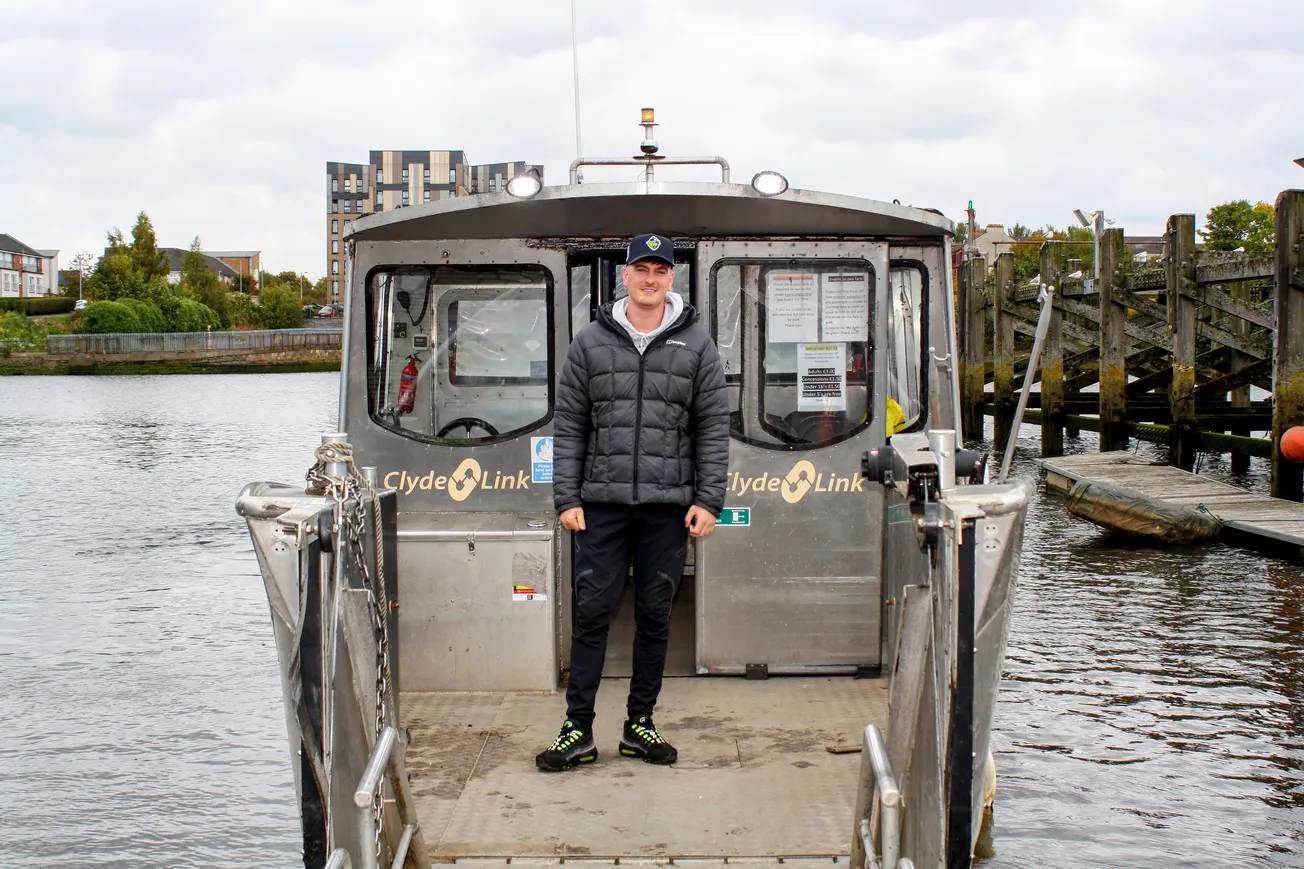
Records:
{"label": "low riverbank strip at the waterline below the long fence", "polygon": [[266,374],[339,371],[338,347],[134,354],[10,354],[0,376],[16,374]]}

